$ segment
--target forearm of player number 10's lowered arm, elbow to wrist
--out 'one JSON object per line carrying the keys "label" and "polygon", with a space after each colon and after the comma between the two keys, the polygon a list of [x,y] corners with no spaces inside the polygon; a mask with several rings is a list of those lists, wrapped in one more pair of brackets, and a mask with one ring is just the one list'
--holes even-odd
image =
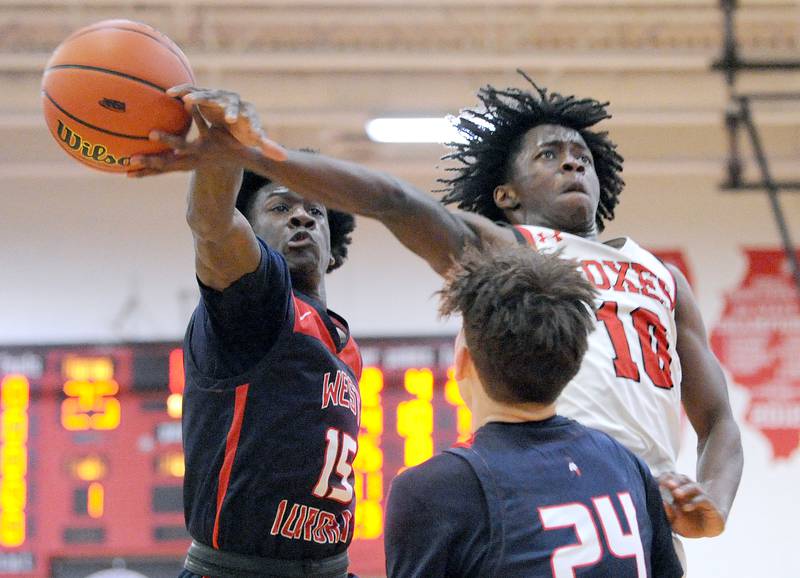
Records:
{"label": "forearm of player number 10's lowered arm, elbow to wrist", "polygon": [[708,435],[698,439],[697,481],[725,518],[736,497],[743,465],[739,427],[732,416],[717,420]]}

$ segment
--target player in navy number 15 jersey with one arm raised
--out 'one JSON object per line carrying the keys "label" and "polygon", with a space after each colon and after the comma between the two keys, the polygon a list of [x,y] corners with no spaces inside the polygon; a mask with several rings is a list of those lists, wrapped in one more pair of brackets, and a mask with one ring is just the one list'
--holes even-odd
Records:
{"label": "player in navy number 15 jersey with one arm raised", "polygon": [[[213,150],[224,120],[209,117],[195,114]],[[353,217],[205,158],[187,213],[201,300],[184,346],[182,575],[345,577],[361,358],[325,275]]]}

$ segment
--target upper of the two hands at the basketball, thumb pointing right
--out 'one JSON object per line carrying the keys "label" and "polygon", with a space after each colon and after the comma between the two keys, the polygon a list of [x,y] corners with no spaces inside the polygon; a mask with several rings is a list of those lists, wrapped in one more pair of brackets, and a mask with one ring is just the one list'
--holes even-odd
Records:
{"label": "upper of the two hands at the basketball, thumb pointing right", "polygon": [[286,160],[283,147],[270,140],[261,127],[255,106],[237,93],[181,84],[170,88],[167,94],[183,100],[187,108],[199,110],[212,127],[226,128],[243,145],[258,148],[274,161]]}

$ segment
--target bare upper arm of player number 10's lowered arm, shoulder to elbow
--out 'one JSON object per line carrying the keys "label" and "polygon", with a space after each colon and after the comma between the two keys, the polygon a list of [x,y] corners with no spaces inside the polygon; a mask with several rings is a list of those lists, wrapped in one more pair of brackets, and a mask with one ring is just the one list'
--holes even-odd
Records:
{"label": "bare upper arm of player number 10's lowered arm, shoulder to elbow", "polygon": [[708,433],[720,417],[731,415],[725,374],[708,343],[706,328],[689,283],[671,269],[677,284],[675,320],[677,350],[683,378],[681,400],[698,436]]}

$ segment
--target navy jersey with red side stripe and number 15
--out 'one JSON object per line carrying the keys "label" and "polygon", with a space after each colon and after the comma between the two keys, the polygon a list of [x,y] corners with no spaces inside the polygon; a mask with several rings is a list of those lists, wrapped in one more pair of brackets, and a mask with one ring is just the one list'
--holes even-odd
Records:
{"label": "navy jersey with red side stripe and number 15", "polygon": [[220,550],[320,559],[353,535],[361,358],[344,320],[261,248],[224,291],[201,284],[186,333],[186,524]]}

